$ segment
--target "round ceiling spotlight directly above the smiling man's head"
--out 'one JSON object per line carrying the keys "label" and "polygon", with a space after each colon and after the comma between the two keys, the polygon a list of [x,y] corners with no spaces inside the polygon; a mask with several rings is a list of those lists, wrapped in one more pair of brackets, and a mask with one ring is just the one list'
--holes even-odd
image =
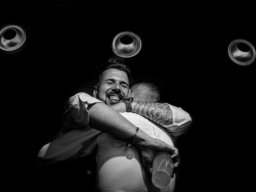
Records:
{"label": "round ceiling spotlight directly above the smiling man's head", "polygon": [[133,32],[121,32],[112,41],[112,50],[120,57],[128,58],[135,56],[140,49],[140,37]]}

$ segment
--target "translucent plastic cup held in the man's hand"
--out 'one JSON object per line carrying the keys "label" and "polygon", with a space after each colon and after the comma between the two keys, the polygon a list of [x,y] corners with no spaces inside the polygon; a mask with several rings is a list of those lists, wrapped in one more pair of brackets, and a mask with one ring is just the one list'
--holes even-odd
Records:
{"label": "translucent plastic cup held in the man's hand", "polygon": [[165,188],[171,181],[174,164],[171,154],[159,152],[153,159],[152,183],[157,188]]}

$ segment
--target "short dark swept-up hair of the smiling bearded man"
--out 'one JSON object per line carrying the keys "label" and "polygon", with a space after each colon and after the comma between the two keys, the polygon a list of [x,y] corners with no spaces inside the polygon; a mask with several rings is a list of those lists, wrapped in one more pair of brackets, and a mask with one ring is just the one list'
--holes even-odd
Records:
{"label": "short dark swept-up hair of the smiling bearded man", "polygon": [[132,74],[130,68],[126,64],[124,64],[122,60],[119,60],[117,58],[110,58],[107,62],[105,62],[99,67],[98,73],[97,73],[97,79],[96,79],[97,84],[100,82],[103,72],[108,69],[117,69],[117,70],[126,72],[128,76],[128,80],[130,82],[131,74]]}

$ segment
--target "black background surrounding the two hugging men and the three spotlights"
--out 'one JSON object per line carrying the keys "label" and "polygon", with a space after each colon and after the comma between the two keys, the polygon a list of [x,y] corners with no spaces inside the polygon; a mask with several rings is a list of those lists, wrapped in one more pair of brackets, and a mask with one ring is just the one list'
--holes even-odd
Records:
{"label": "black background surrounding the two hugging men and the three spotlights", "polygon": [[99,64],[118,58],[112,39],[123,31],[142,40],[140,52],[123,59],[134,78],[158,78],[165,102],[193,119],[177,145],[176,191],[233,192],[252,186],[256,63],[240,66],[228,56],[235,39],[256,46],[250,4],[12,3],[2,5],[0,25],[22,26],[27,39],[18,50],[0,50],[8,191],[53,191],[58,185],[63,191],[73,184],[82,189],[84,178],[76,177],[70,164],[66,171],[45,170],[36,156],[60,129],[66,100],[77,92],[92,94]]}

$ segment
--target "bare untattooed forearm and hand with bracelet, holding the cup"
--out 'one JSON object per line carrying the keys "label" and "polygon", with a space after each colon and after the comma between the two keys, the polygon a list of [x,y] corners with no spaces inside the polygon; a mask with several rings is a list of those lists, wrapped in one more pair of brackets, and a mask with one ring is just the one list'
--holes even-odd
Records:
{"label": "bare untattooed forearm and hand with bracelet, holding the cup", "polygon": [[[134,124],[126,120],[126,118],[120,115],[116,110],[103,103],[96,103],[91,106],[89,109],[89,124],[92,128],[112,134],[126,141],[130,140],[131,136],[136,131]],[[133,144],[139,148],[142,162],[149,173],[152,173],[153,157],[160,151],[166,151],[172,154],[171,158],[175,162],[174,172],[177,171],[179,164],[177,148],[148,136],[140,129],[138,130]]]}

